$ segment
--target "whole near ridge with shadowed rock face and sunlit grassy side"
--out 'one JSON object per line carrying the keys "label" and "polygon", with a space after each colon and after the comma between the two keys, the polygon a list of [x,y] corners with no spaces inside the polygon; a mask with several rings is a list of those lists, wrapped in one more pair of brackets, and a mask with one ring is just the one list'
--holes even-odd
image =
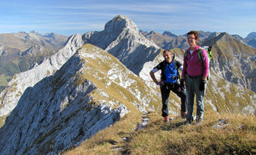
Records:
{"label": "whole near ridge with shadowed rock face and sunlit grassy side", "polygon": [[0,130],[1,154],[57,154],[154,109],[154,93],[104,50],[86,44],[53,76],[28,87]]}

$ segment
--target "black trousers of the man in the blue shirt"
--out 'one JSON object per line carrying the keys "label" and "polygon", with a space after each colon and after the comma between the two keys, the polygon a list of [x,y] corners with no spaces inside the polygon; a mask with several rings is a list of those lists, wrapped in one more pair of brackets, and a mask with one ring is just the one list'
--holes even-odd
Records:
{"label": "black trousers of the man in the blue shirt", "polygon": [[160,86],[161,90],[161,95],[162,95],[162,117],[168,116],[168,98],[170,95],[170,91],[175,93],[181,98],[181,111],[185,112],[187,111],[186,107],[186,91],[181,91],[179,92],[180,85],[178,83],[173,83],[173,84],[164,84]]}

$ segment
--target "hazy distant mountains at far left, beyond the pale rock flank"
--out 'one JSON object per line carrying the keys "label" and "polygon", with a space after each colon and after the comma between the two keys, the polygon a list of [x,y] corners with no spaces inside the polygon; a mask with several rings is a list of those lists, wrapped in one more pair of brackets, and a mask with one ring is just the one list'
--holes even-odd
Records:
{"label": "hazy distant mountains at far left, beyond the pale rock flank", "polygon": [[52,56],[67,41],[67,36],[55,33],[18,32],[0,34],[0,92],[14,74],[24,72]]}

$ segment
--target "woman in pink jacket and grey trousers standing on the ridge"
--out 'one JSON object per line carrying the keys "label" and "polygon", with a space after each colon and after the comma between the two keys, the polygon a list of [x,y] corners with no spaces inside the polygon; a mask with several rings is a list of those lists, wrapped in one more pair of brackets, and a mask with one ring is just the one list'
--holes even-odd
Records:
{"label": "woman in pink jacket and grey trousers standing on the ridge", "polygon": [[[199,46],[197,45],[199,34],[196,31],[191,31],[187,34],[187,42],[190,48],[185,51],[183,56],[183,70],[181,74],[181,88],[184,85],[187,92],[187,119],[186,124],[189,125],[193,122],[193,106],[196,96],[197,113],[196,122],[203,121],[203,98],[205,95],[206,80],[209,72],[209,60],[207,51],[202,49],[201,60],[199,60],[198,52]],[[186,53],[187,52],[187,53]]]}

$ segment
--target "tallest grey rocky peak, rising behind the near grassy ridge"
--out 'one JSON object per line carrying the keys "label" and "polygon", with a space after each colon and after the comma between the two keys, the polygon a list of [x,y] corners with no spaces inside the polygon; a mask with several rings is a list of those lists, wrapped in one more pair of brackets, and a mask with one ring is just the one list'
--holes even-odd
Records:
{"label": "tallest grey rocky peak, rising behind the near grassy ridge", "polygon": [[137,25],[123,15],[108,21],[102,32],[84,34],[83,40],[106,50],[137,75],[145,62],[154,60],[160,53],[160,48],[146,39]]}

